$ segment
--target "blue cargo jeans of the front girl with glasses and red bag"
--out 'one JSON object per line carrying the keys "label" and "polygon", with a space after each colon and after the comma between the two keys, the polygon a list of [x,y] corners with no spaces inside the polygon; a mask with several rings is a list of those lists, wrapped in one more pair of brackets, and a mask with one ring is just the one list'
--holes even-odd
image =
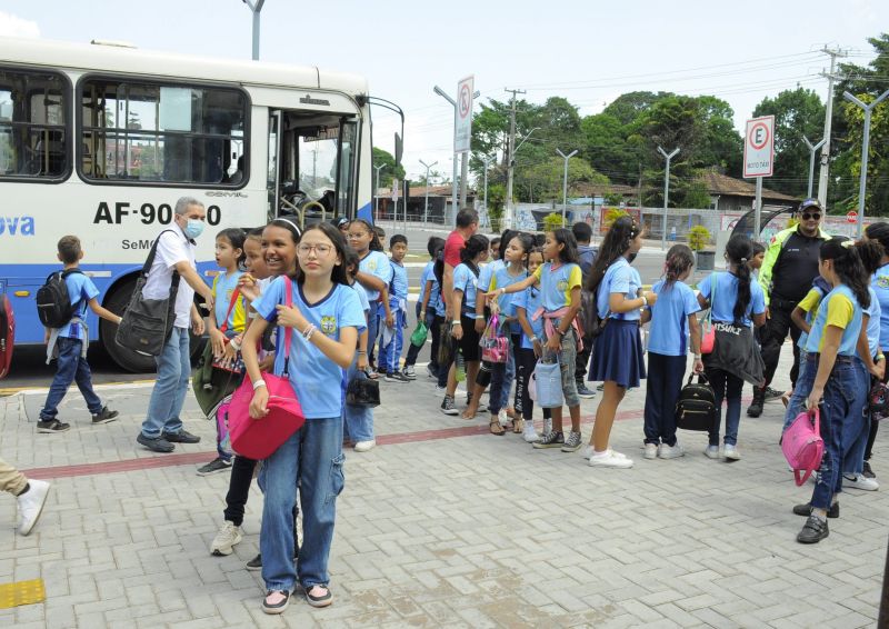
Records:
{"label": "blue cargo jeans of the front girl with glasses and red bag", "polygon": [[[342,418],[307,419],[262,463],[266,491],[259,550],[262,580],[269,590],[293,591],[297,578],[309,589],[330,581],[327,571],[337,496],[344,485]],[[302,506],[302,548],[293,567],[293,507],[297,482]]]}

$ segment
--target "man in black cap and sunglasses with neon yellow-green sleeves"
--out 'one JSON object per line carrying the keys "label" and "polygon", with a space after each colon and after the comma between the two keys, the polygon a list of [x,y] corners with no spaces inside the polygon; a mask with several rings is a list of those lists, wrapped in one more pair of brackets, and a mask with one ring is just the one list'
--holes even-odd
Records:
{"label": "man in black cap and sunglasses with neon yellow-green sleeves", "polygon": [[[766,363],[766,383],[753,387],[753,401],[747,409],[748,417],[762,415],[766,392],[775,377],[781,346],[790,332],[793,340],[793,367],[790,369],[791,386],[799,375],[800,329],[790,321],[793,308],[806,297],[818,277],[818,252],[821,242],[830,238],[821,230],[825,214],[818,199],[806,199],[800,203],[793,227],[779,231],[769,241],[766,259],[759,270],[759,283],[766,292],[766,325],[760,329],[762,361]],[[780,395],[780,393],[779,393]]]}

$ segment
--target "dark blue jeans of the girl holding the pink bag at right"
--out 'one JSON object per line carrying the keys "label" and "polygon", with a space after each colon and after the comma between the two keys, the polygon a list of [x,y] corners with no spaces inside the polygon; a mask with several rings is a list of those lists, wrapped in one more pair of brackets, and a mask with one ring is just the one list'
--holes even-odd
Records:
{"label": "dark blue jeans of the girl holding the pink bag at right", "polygon": [[829,509],[833,495],[842,491],[846,452],[861,431],[868,381],[855,360],[838,356],[825,385],[821,405],[825,457],[812,491],[811,505],[816,509]]}

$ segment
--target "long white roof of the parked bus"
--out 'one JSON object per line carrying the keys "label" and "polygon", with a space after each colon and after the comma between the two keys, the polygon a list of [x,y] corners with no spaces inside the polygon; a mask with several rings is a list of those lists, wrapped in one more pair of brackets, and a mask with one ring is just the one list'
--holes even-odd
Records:
{"label": "long white roof of the parked bus", "polygon": [[214,59],[122,46],[71,43],[39,38],[0,37],[0,63],[4,62],[46,66],[52,70],[71,69],[332,90],[350,96],[368,93],[368,83],[363,77],[321,70],[316,66]]}

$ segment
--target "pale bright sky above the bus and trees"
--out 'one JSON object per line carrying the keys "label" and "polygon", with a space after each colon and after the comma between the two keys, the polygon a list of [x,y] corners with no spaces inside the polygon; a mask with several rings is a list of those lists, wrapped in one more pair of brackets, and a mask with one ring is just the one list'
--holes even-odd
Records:
{"label": "pale bright sky above the bus and trees", "polygon": [[[242,0],[0,0],[0,36],[216,58],[249,59],[251,24]],[[885,0],[266,0],[260,57],[364,76],[404,110],[403,162],[417,178],[419,160],[450,173],[453,108],[432,89],[456,96],[469,74],[481,102],[525,89],[536,103],[565,97],[581,116],[636,90],[713,94],[741,131],[767,96],[799,84],[826,97],[822,47],[866,64],[867,38],[888,30]],[[374,109],[373,122],[374,146],[392,152],[397,116]]]}

